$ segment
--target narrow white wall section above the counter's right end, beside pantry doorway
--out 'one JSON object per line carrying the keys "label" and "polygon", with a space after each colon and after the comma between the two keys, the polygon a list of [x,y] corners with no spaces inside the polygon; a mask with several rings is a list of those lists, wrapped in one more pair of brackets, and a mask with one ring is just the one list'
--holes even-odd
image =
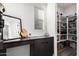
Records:
{"label": "narrow white wall section above the counter's right end, beside pantry doorway", "polygon": [[47,6],[47,30],[50,36],[55,35],[55,3]]}

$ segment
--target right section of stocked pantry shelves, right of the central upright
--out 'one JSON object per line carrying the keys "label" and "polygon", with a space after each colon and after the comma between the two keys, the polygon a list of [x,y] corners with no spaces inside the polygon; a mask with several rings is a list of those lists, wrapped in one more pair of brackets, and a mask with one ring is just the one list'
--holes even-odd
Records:
{"label": "right section of stocked pantry shelves, right of the central upright", "polygon": [[73,17],[69,17],[69,20],[68,20],[68,27],[69,27],[68,28],[68,39],[71,41],[77,40],[76,20],[77,20],[76,15]]}

